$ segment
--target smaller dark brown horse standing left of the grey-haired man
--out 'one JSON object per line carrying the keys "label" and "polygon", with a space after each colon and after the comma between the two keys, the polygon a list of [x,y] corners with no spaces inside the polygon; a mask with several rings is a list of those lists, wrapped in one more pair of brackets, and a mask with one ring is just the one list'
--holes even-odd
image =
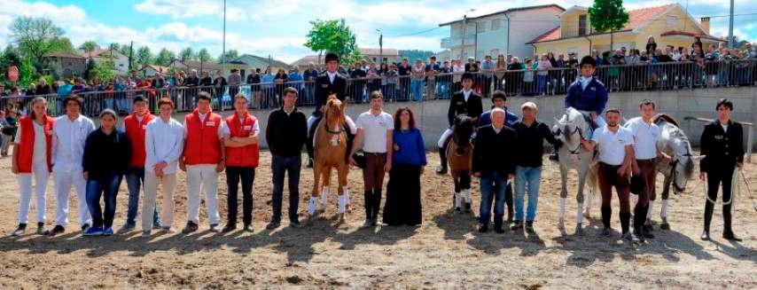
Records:
{"label": "smaller dark brown horse standing left of the grey-haired man", "polygon": [[449,173],[455,182],[455,210],[465,212],[471,210],[471,175],[473,160],[473,145],[471,136],[475,129],[476,118],[460,115],[455,118],[455,129],[447,146],[447,160]]}

